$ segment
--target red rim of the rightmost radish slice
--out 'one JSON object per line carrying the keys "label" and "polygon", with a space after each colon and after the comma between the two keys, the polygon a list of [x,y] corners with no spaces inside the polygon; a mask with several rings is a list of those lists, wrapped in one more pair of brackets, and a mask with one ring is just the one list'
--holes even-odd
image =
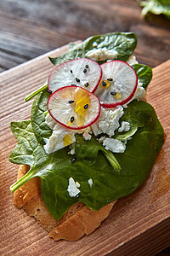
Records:
{"label": "red rim of the rightmost radish slice", "polygon": [[[115,61],[116,61],[116,62],[123,62],[123,63],[125,63],[128,67],[131,67],[127,62],[125,62],[125,61],[120,61],[120,60],[108,61],[108,62],[105,62],[105,63],[101,64],[100,66],[103,66],[103,65],[105,65],[105,64],[108,64],[108,63],[110,63],[110,62],[115,62]],[[133,67],[131,67],[131,68],[133,69]],[[137,86],[138,86],[138,75],[137,75],[137,73],[135,72],[134,69],[133,69],[133,72],[134,72],[134,74],[135,74],[135,76],[136,76],[136,84],[135,84],[135,86],[134,86],[134,88],[133,88],[133,92],[130,94],[130,96],[128,96],[128,97],[127,97],[124,101],[122,101],[122,102],[116,102],[116,103],[111,103],[111,104],[100,102],[100,104],[101,104],[102,107],[104,107],[104,108],[116,108],[117,106],[122,106],[122,105],[126,104],[127,102],[129,102],[129,101],[132,99],[132,97],[133,97],[133,95],[134,95],[134,93],[135,93],[135,91],[136,91],[136,89],[137,89]]]}

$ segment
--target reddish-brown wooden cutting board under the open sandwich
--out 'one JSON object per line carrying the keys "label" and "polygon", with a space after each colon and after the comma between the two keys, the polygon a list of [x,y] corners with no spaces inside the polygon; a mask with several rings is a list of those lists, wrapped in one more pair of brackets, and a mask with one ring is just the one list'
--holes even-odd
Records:
{"label": "reddish-brown wooden cutting board under the open sandwich", "polygon": [[16,145],[10,122],[30,119],[32,90],[47,79],[54,66],[48,55],[57,56],[68,46],[55,49],[0,74],[1,84],[1,172],[0,255],[154,255],[170,245],[170,61],[154,68],[148,102],[156,109],[167,134],[148,180],[133,195],[117,201],[111,215],[90,236],[79,241],[54,241],[34,218],[13,205],[9,186],[18,166],[8,162]]}

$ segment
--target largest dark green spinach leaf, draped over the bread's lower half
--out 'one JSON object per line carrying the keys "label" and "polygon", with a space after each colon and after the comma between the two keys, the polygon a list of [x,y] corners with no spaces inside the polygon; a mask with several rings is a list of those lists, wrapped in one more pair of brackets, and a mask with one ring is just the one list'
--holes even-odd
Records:
{"label": "largest dark green spinach leaf, draped over the bread's lower half", "polygon": [[[12,192],[32,177],[40,177],[42,198],[55,219],[62,217],[73,203],[82,201],[89,208],[99,210],[117,198],[131,194],[148,177],[161,149],[164,132],[150,104],[133,101],[125,109],[124,120],[138,124],[138,131],[127,141],[123,154],[116,154],[121,170],[117,172],[102,153],[101,145],[92,137],[85,141],[77,135],[76,161],[72,163],[67,148],[45,154],[38,143],[31,121],[13,122],[11,129],[18,140],[9,160],[31,166],[30,171],[11,186]],[[78,197],[70,197],[68,180],[73,177],[81,184]],[[88,184],[93,180],[92,188]]]}

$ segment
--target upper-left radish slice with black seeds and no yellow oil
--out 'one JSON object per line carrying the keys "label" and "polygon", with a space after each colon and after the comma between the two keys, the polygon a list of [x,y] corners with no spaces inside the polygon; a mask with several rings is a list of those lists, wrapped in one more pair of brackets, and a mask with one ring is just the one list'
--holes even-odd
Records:
{"label": "upper-left radish slice with black seeds and no yellow oil", "polygon": [[94,92],[101,79],[101,67],[96,61],[80,58],[66,61],[54,68],[48,78],[48,90],[54,92],[68,85]]}

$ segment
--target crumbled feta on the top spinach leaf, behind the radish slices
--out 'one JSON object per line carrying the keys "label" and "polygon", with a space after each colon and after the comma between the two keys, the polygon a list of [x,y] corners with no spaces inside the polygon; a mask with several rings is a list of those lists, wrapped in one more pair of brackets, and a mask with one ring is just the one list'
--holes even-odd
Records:
{"label": "crumbled feta on the top spinach leaf, behind the radish slices", "polygon": [[117,55],[118,52],[115,49],[107,49],[106,47],[99,48],[99,45],[98,49],[94,48],[88,50],[86,53],[86,57],[94,61],[105,61],[107,59],[114,60],[116,59]]}

